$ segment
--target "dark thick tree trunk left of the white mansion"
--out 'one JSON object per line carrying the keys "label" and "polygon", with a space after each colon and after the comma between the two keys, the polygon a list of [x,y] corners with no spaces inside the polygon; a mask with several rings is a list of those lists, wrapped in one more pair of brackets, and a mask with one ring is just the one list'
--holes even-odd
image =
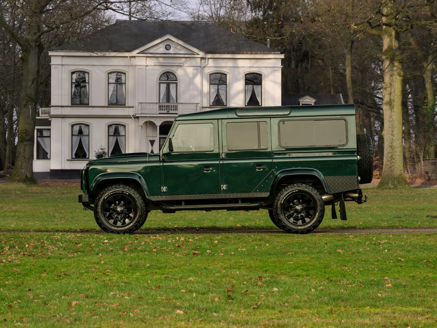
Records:
{"label": "dark thick tree trunk left of the white mansion", "polygon": [[11,181],[37,183],[33,175],[33,147],[41,53],[40,42],[29,42],[28,49],[23,51],[22,102],[18,121],[17,156]]}

